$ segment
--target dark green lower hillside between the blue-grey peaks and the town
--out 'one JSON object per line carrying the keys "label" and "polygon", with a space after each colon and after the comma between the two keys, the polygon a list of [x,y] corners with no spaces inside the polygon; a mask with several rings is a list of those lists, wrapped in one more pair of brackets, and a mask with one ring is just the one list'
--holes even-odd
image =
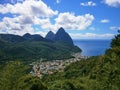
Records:
{"label": "dark green lower hillside between the blue-grey peaks and the town", "polygon": [[[3,43],[2,43],[3,44]],[[76,46],[65,43],[25,41],[0,46],[0,60],[46,60],[71,58],[71,53],[81,52]]]}

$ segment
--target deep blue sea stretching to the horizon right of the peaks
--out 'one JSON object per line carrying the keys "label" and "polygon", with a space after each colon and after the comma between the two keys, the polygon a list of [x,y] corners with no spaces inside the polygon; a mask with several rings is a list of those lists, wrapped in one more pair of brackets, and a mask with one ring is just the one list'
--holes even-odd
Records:
{"label": "deep blue sea stretching to the horizon right of the peaks", "polygon": [[111,40],[74,40],[74,44],[82,49],[84,56],[103,55],[110,48]]}

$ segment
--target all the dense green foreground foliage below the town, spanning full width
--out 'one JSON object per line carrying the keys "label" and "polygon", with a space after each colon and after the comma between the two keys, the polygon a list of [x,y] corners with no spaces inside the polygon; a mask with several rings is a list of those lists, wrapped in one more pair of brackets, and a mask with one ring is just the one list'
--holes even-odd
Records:
{"label": "all the dense green foreground foliage below the town, spanning full width", "polygon": [[0,66],[0,90],[120,90],[120,34],[105,55],[71,63],[63,72],[42,79],[29,75],[21,62]]}

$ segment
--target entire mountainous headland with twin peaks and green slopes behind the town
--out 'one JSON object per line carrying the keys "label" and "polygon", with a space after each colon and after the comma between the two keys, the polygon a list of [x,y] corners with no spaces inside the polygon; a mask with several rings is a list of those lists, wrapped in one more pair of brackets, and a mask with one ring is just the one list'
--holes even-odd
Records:
{"label": "entire mountainous headland with twin peaks and green slopes behind the town", "polygon": [[46,37],[29,33],[23,36],[0,34],[0,61],[6,60],[55,60],[74,58],[73,53],[81,53],[73,44],[70,35],[61,27],[56,34],[48,32]]}

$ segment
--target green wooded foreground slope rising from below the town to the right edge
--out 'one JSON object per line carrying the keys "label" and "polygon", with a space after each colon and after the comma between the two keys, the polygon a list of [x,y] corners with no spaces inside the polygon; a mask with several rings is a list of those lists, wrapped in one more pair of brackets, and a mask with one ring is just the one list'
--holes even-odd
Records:
{"label": "green wooded foreground slope rising from below the town to the right edge", "polygon": [[49,90],[120,90],[119,42],[120,34],[105,55],[72,63],[64,72],[44,76],[43,81]]}

